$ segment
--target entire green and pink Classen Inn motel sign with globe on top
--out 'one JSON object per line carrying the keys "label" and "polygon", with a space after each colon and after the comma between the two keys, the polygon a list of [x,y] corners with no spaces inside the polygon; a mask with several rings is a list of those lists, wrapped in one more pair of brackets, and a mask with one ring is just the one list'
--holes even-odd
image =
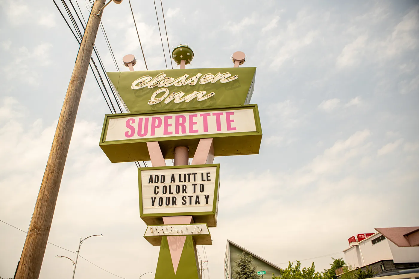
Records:
{"label": "entire green and pink Classen Inn motel sign with globe on top", "polygon": [[105,116],[99,146],[112,163],[152,161],[138,168],[138,185],[144,238],[160,246],[155,279],[200,278],[196,245],[211,245],[217,226],[214,156],[259,153],[259,111],[249,104],[256,67],[239,68],[245,55],[235,54],[233,68],[185,69],[194,53],[180,45],[172,58],[181,69],[134,71],[127,55],[129,72],[108,72],[128,113]]}

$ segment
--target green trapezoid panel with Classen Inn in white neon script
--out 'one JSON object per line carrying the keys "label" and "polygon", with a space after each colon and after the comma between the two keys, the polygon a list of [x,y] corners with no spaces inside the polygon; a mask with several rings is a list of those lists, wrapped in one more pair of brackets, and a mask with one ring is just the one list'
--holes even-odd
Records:
{"label": "green trapezoid panel with Classen Inn in white neon script", "polygon": [[108,72],[130,112],[248,104],[256,67]]}

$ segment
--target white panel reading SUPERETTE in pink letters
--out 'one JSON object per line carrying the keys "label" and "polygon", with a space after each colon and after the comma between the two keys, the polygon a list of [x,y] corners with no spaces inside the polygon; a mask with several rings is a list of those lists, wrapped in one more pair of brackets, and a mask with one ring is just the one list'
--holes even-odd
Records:
{"label": "white panel reading SUPERETTE in pink letters", "polygon": [[253,109],[110,118],[106,141],[256,131]]}

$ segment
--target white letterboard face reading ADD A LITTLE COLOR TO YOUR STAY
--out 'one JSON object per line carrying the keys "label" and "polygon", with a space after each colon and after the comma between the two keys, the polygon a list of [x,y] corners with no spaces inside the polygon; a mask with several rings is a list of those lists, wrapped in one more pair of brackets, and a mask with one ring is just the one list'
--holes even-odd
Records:
{"label": "white letterboard face reading ADD A LITTLE COLOR TO YOUR STAY", "polygon": [[212,212],[217,167],[141,170],[142,213]]}

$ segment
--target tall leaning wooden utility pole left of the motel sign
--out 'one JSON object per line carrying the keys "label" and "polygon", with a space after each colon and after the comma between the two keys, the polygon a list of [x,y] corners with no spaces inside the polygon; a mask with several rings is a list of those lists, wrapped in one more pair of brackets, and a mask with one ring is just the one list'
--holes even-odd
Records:
{"label": "tall leaning wooden utility pole left of the motel sign", "polygon": [[42,178],[41,188],[36,199],[34,214],[26,235],[15,279],[38,279],[41,271],[80,96],[101,21],[101,9],[104,5],[105,0],[96,0],[89,16],[61,114],[59,115],[47,167]]}

